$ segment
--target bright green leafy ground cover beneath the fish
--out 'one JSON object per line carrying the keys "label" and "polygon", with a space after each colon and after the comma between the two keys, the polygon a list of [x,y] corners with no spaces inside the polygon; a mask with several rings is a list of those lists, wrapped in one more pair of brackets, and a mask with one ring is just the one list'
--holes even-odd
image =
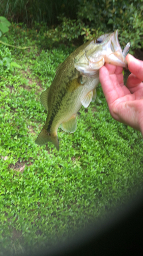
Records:
{"label": "bright green leafy ground cover beneath the fish", "polygon": [[35,47],[0,51],[21,66],[0,62],[1,255],[63,241],[142,189],[141,134],[111,118],[101,88],[73,134],[59,129],[59,152],[35,144],[47,115],[40,94],[73,48],[41,49],[32,33],[13,25],[11,44]]}

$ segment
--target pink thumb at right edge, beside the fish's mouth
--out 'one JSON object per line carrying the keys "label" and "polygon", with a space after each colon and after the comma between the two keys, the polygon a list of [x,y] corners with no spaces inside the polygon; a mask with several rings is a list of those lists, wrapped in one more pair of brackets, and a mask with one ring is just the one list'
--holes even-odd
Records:
{"label": "pink thumb at right edge, beside the fish's mouth", "polygon": [[134,58],[131,54],[126,56],[128,62],[128,68],[138,79],[143,81],[143,61]]}

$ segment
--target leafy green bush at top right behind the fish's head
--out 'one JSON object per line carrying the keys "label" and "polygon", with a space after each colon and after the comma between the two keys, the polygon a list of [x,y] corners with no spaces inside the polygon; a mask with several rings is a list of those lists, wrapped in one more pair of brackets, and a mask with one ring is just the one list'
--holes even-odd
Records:
{"label": "leafy green bush at top right behind the fish's head", "polygon": [[67,41],[84,36],[83,41],[98,37],[103,33],[119,29],[120,43],[124,47],[131,42],[131,51],[143,48],[143,5],[133,5],[130,1],[114,3],[101,1],[80,1],[77,20],[61,18],[62,23],[55,29],[47,31],[46,35],[53,42]]}

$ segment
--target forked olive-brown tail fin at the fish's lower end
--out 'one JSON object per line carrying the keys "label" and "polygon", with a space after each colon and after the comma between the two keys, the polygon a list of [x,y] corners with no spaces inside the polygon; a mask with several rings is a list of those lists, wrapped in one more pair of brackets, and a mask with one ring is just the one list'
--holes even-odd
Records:
{"label": "forked olive-brown tail fin at the fish's lower end", "polygon": [[58,136],[56,134],[51,134],[50,132],[48,132],[46,129],[43,128],[40,134],[38,135],[35,143],[42,146],[49,141],[52,142],[56,147],[56,149],[59,151]]}

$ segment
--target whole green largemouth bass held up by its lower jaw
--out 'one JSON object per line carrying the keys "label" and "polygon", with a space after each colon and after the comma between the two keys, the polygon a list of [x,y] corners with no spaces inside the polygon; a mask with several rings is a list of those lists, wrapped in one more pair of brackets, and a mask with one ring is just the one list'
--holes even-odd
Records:
{"label": "whole green largemouth bass held up by its lower jaw", "polygon": [[99,69],[104,63],[127,69],[125,57],[129,48],[130,42],[122,51],[116,30],[85,42],[60,64],[51,86],[40,96],[47,118],[36,144],[51,142],[59,151],[59,126],[62,124],[65,132],[75,132],[77,112],[82,105],[87,108],[96,99]]}

